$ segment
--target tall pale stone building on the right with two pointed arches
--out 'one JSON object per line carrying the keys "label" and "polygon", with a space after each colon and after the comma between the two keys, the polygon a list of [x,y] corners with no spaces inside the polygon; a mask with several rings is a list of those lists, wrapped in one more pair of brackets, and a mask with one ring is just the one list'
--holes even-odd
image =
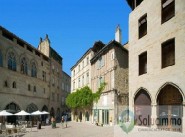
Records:
{"label": "tall pale stone building on the right with two pointed arches", "polygon": [[185,1],[127,2],[133,10],[129,16],[129,106],[136,124],[184,132]]}

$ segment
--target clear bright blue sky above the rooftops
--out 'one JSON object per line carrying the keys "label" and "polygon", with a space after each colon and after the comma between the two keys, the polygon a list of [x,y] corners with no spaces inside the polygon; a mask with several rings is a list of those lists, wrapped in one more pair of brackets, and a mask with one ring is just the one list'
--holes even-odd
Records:
{"label": "clear bright blue sky above the rooftops", "polygon": [[128,41],[130,12],[126,0],[1,0],[0,26],[35,48],[48,34],[71,75],[70,68],[95,41],[115,39],[118,24],[122,44]]}

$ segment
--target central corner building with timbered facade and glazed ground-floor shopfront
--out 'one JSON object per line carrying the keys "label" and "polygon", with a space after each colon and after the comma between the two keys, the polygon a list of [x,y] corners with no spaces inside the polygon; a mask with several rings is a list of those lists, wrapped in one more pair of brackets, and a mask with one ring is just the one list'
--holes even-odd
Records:
{"label": "central corner building with timbered facade and glazed ground-floor shopfront", "polygon": [[92,90],[101,83],[105,89],[93,106],[93,122],[117,124],[118,116],[128,105],[128,51],[117,41],[105,45],[91,60]]}

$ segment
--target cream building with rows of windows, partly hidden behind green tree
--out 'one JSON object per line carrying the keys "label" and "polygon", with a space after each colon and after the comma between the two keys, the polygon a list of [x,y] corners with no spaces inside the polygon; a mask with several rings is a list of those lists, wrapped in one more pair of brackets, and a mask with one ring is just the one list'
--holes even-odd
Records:
{"label": "cream building with rows of windows, partly hidden behind green tree", "polygon": [[[94,53],[92,48],[89,48],[85,54],[77,61],[77,63],[71,68],[71,92],[75,92],[84,86],[91,88],[91,64]],[[85,115],[86,113],[86,115]],[[91,111],[74,111],[72,112],[72,120],[75,121],[76,117],[82,121],[89,121]],[[88,117],[88,118],[86,118]]]}

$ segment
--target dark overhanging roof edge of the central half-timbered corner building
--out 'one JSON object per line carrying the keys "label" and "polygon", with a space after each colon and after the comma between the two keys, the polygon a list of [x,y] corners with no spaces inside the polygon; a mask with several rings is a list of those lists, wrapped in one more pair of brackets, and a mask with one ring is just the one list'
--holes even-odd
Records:
{"label": "dark overhanging roof edge of the central half-timbered corner building", "polygon": [[[127,43],[126,43],[127,44]],[[124,44],[125,45],[125,44]],[[110,41],[106,46],[104,46],[92,59],[91,59],[91,63],[94,63],[103,53],[105,53],[106,51],[110,50],[113,46],[117,46],[119,48],[121,48],[122,50],[124,50],[125,52],[128,53],[128,50],[126,48],[124,48],[119,42],[112,40]]]}

